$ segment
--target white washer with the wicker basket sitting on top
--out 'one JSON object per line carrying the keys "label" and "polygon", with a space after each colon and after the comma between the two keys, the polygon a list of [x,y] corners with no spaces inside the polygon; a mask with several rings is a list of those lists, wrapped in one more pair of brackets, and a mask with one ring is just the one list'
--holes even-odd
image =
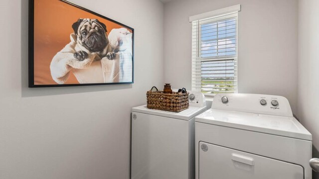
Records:
{"label": "white washer with the wicker basket sitting on top", "polygon": [[131,179],[193,179],[195,116],[205,111],[201,92],[189,92],[180,112],[132,108]]}

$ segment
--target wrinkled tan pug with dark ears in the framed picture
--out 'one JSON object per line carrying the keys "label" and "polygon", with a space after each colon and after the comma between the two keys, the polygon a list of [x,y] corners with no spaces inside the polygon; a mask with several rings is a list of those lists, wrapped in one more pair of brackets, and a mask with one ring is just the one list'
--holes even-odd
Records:
{"label": "wrinkled tan pug with dark ears in the framed picture", "polygon": [[89,53],[96,53],[101,59],[107,57],[109,60],[113,60],[115,58],[104,23],[98,19],[80,18],[73,23],[72,28],[77,36],[77,44],[82,49],[74,53],[75,59],[83,61],[88,58]]}

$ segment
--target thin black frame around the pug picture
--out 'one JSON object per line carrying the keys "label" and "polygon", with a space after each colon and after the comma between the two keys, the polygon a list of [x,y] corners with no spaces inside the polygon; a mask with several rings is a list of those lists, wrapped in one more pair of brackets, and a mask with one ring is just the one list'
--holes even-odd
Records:
{"label": "thin black frame around the pug picture", "polygon": [[109,20],[111,22],[122,25],[132,30],[132,82],[120,82],[120,83],[92,83],[92,84],[57,84],[57,85],[35,85],[34,84],[34,0],[29,0],[29,20],[28,20],[28,87],[29,88],[46,88],[46,87],[74,87],[74,86],[100,86],[100,85],[121,85],[121,84],[134,84],[134,28],[120,23],[116,20],[108,18],[104,15],[96,13],[87,8],[81,7],[68,0],[59,0],[70,4],[74,7],[80,8],[101,18]]}

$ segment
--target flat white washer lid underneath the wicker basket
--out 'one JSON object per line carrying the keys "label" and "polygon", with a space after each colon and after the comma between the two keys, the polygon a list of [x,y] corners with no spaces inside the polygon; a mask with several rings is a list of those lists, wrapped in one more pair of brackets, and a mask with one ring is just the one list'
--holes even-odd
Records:
{"label": "flat white washer lid underneath the wicker basket", "polygon": [[180,112],[170,112],[170,111],[163,111],[163,110],[157,110],[157,109],[149,109],[146,105],[133,107],[133,112],[141,112],[145,114],[153,114],[153,115],[159,115],[164,117],[170,117],[170,118],[176,118],[176,119],[182,119],[182,120],[190,120],[191,118],[195,117],[199,113],[206,110],[206,106],[204,107],[195,107],[195,106],[189,106],[188,109],[182,110]]}

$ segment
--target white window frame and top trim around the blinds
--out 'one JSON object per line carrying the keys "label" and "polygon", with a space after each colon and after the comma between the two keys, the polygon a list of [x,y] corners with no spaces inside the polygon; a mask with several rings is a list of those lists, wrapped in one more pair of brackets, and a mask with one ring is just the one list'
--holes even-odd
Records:
{"label": "white window frame and top trim around the blinds", "polygon": [[[202,14],[198,14],[198,15],[194,15],[194,16],[190,16],[189,17],[189,22],[193,22],[193,21],[197,21],[197,25],[198,28],[201,26],[201,24],[206,24],[206,23],[212,23],[212,22],[216,22],[216,21],[220,21],[220,20],[226,20],[229,18],[235,18],[236,19],[236,55],[234,56],[224,56],[224,57],[207,57],[207,58],[201,58],[201,60],[226,60],[226,59],[233,59],[234,60],[234,66],[236,68],[234,68],[234,83],[236,85],[236,89],[234,90],[234,93],[238,92],[238,11],[240,11],[241,6],[240,4],[237,5],[233,5],[230,7],[226,7],[226,8],[222,8],[222,9],[218,9],[218,10],[214,10],[214,11],[210,11],[210,12],[206,12],[206,13],[202,13]],[[204,23],[203,23],[204,22]],[[193,33],[192,33],[193,35]],[[201,39],[201,33],[199,32],[198,29],[198,33],[196,38],[198,39],[197,41],[199,42]],[[192,42],[193,43],[193,42]],[[201,46],[197,45],[196,48],[197,49],[197,58],[201,57],[201,50],[199,50]],[[193,44],[192,44],[192,48],[193,48]],[[193,54],[192,54],[192,61],[191,61],[191,73],[192,73],[192,79],[191,79],[191,86],[192,86],[192,90],[193,89]],[[197,87],[198,88],[198,87]],[[201,90],[200,90],[201,91]],[[206,97],[214,97],[216,95],[216,93],[204,93]]]}

